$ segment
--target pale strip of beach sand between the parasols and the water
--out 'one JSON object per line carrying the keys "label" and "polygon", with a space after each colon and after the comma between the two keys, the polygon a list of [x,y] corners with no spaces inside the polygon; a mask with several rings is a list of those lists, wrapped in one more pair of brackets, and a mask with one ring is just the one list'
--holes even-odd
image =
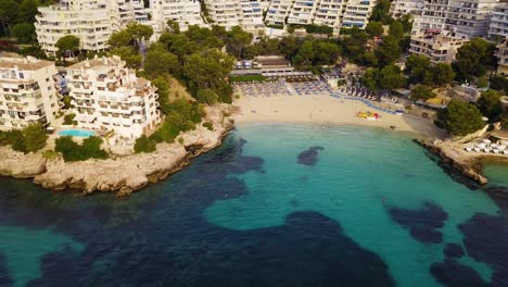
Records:
{"label": "pale strip of beach sand between the parasols and the water", "polygon": [[[310,123],[320,125],[343,124],[372,127],[395,128],[429,138],[443,137],[443,130],[436,128],[430,120],[411,115],[396,115],[380,112],[367,107],[361,101],[321,96],[243,96],[234,100],[240,107],[238,123],[285,122]],[[356,116],[357,112],[376,112],[380,120],[369,121]]]}

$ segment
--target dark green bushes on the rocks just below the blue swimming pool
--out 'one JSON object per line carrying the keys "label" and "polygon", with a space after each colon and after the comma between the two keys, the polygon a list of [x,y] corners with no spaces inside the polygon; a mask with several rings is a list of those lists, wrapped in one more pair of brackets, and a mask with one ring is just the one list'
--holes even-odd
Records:
{"label": "dark green bushes on the rocks just below the blue swimming pool", "polygon": [[64,161],[85,161],[88,159],[107,159],[107,152],[101,149],[100,137],[89,137],[79,145],[71,136],[59,137],[54,150],[62,153]]}

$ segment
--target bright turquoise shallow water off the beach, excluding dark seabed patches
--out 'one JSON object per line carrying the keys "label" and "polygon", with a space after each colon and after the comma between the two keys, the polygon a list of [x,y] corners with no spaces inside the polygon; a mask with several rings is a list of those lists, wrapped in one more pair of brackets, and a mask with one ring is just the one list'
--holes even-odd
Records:
{"label": "bright turquoise shallow water off the beach, excluding dark seabed patches", "polygon": [[[321,213],[340,223],[361,247],[380,254],[401,286],[435,285],[432,275],[421,271],[443,259],[443,247],[411,238],[390,219],[388,208],[435,203],[449,214],[444,241],[459,245],[458,224],[477,212],[497,212],[488,196],[450,179],[408,135],[280,125],[246,125],[237,135],[247,140],[244,155],[265,159],[264,172],[239,175],[249,194],[215,201],[204,211],[209,222],[249,230],[280,226],[295,211]],[[296,154],[312,146],[325,148],[317,164],[296,165]],[[490,277],[485,264],[462,260]]]}

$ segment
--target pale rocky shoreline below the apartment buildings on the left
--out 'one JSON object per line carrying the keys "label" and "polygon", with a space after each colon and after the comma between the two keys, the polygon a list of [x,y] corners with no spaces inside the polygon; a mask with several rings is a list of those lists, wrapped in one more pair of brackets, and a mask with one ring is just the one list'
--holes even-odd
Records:
{"label": "pale rocky shoreline below the apartment buildings on the left", "polygon": [[183,144],[160,144],[151,153],[139,153],[109,160],[64,162],[60,157],[46,160],[42,154],[0,148],[0,175],[15,178],[34,178],[34,183],[55,191],[79,190],[84,195],[97,191],[116,192],[125,197],[160,182],[190,164],[191,159],[221,145],[233,128],[226,117],[231,108],[226,104],[206,109],[204,122],[212,122],[214,130],[199,124],[194,130],[182,133]]}

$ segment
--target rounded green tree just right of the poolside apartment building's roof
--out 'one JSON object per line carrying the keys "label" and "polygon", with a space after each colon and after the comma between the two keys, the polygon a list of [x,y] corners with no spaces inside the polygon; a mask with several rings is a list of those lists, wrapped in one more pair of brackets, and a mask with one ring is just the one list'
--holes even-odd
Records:
{"label": "rounded green tree just right of the poolside apartment building's roof", "polygon": [[150,50],[144,59],[144,72],[152,77],[175,73],[178,67],[178,57],[165,50]]}

